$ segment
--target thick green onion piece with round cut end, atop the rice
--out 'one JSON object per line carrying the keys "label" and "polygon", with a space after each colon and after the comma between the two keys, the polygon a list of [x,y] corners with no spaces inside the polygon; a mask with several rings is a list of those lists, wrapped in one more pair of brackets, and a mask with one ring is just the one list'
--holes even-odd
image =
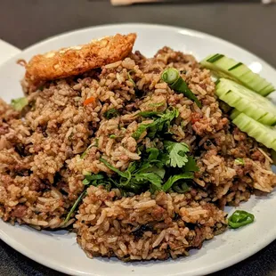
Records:
{"label": "thick green onion piece with round cut end, atop the rice", "polygon": [[190,88],[180,76],[177,69],[169,68],[164,70],[161,78],[171,87],[171,89],[175,90],[175,92],[183,93],[188,99],[195,101],[199,108],[201,108],[201,102],[194,95],[194,93],[191,92]]}

